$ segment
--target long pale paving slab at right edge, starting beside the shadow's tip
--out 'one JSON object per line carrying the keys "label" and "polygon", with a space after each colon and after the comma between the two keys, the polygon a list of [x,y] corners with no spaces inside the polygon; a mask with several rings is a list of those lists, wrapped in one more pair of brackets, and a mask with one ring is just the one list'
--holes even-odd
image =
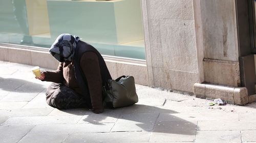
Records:
{"label": "long pale paving slab at right edge, starting beside the shadow's tip", "polygon": [[198,121],[198,130],[256,130],[256,121]]}

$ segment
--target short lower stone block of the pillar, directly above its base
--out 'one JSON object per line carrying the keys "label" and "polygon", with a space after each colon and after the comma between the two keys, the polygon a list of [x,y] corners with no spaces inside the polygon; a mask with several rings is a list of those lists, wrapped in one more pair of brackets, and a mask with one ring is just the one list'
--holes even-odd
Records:
{"label": "short lower stone block of the pillar, directly above its base", "polygon": [[238,62],[204,59],[205,82],[229,86],[240,85]]}

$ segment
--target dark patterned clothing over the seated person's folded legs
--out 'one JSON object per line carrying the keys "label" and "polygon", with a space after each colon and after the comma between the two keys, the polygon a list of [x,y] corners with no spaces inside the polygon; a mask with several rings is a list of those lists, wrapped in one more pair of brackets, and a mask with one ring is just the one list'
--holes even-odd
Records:
{"label": "dark patterned clothing over the seated person's folded legs", "polygon": [[58,109],[87,107],[86,100],[80,94],[59,83],[52,83],[47,88],[46,102]]}

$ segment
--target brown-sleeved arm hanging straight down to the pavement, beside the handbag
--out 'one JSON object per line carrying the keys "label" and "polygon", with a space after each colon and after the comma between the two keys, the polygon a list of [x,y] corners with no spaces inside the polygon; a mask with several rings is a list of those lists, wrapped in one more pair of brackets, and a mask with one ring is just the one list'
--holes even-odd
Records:
{"label": "brown-sleeved arm hanging straight down to the pavement, beside the handbag", "polygon": [[86,76],[94,113],[103,112],[102,79],[99,60],[94,52],[86,52],[82,55],[80,66]]}

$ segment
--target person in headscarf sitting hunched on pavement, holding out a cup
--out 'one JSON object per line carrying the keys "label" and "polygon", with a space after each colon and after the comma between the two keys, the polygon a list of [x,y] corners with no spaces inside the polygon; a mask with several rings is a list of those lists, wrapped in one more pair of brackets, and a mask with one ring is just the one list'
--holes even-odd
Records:
{"label": "person in headscarf sitting hunched on pavement, holding out a cup", "polygon": [[58,109],[88,107],[102,113],[102,86],[112,78],[100,53],[70,34],[59,35],[49,52],[59,66],[37,78],[53,82],[46,91],[47,103]]}

